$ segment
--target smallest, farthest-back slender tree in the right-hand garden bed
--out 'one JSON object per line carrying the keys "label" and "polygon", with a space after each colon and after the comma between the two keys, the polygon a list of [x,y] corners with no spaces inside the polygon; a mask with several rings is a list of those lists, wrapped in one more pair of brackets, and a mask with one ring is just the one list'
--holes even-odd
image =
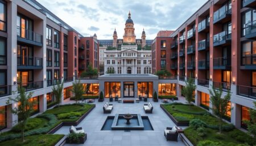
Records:
{"label": "smallest, farthest-back slender tree in the right-hand garden bed", "polygon": [[186,86],[182,88],[181,93],[185,96],[186,101],[188,102],[189,108],[191,105],[191,102],[195,98],[195,95],[193,95],[194,91],[196,90],[196,85],[193,84],[193,79],[189,78],[188,82],[185,82]]}

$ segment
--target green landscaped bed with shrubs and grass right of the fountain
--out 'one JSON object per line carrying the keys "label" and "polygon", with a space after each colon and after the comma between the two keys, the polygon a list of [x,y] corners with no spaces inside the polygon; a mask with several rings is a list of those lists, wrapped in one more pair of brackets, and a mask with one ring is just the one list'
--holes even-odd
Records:
{"label": "green landscaped bed with shrubs and grass right of the fountain", "polygon": [[200,107],[193,105],[189,107],[189,105],[183,105],[182,103],[170,103],[161,106],[177,122],[189,123],[192,120],[197,119],[197,123],[205,123],[205,126],[200,128],[200,130],[198,130],[198,128],[193,128],[191,125],[184,130],[184,135],[193,145],[197,145],[199,141],[204,140],[217,141],[228,146],[245,143],[254,145],[256,143],[256,140],[254,140],[253,137],[247,135],[245,132],[237,130],[232,124],[225,122],[222,126],[222,134],[218,134],[218,119]]}

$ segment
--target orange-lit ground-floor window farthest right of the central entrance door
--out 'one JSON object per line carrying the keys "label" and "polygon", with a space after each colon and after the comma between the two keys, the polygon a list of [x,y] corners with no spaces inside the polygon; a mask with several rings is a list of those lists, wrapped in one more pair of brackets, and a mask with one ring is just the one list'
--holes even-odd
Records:
{"label": "orange-lit ground-floor window farthest right of the central entrance door", "polygon": [[158,95],[176,96],[176,84],[158,84]]}

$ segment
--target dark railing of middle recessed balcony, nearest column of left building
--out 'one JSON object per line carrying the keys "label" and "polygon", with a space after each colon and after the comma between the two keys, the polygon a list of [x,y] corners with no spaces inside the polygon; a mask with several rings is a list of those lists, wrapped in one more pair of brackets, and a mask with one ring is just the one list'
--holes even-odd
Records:
{"label": "dark railing of middle recessed balcony, nearest column of left building", "polygon": [[43,66],[43,59],[39,57],[18,56],[18,66]]}

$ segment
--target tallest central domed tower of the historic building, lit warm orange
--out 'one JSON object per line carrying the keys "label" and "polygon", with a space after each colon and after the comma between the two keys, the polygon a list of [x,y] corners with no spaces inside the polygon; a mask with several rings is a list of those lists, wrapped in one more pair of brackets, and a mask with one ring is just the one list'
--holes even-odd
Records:
{"label": "tallest central domed tower of the historic building, lit warm orange", "polygon": [[135,43],[136,36],[134,34],[134,24],[131,19],[131,12],[129,11],[128,19],[125,23],[125,34],[123,35],[123,43]]}

